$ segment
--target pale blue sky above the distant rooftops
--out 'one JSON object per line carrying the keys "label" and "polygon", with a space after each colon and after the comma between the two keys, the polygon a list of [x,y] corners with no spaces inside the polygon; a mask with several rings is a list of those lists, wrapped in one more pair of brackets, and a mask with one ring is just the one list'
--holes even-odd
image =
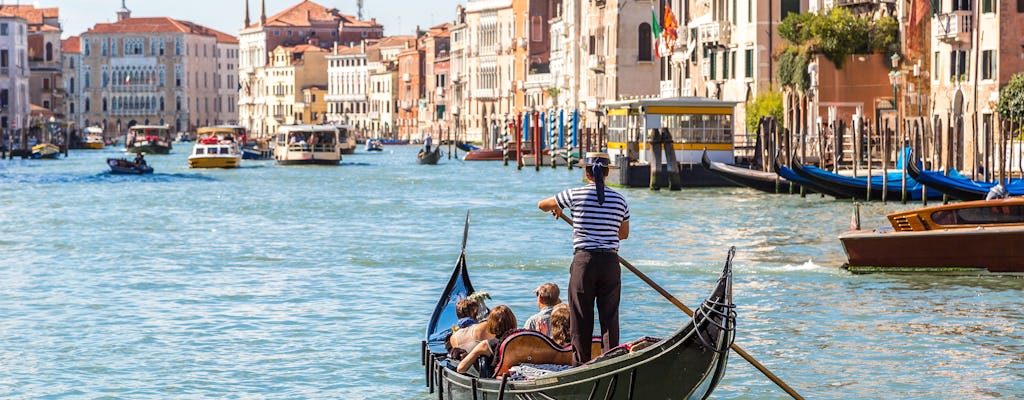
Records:
{"label": "pale blue sky above the distant rooftops", "polygon": [[[97,23],[113,23],[122,0],[0,0],[3,4],[34,4],[60,8],[63,37],[81,35]],[[260,1],[249,0],[250,17],[259,19]],[[265,0],[266,15],[270,16],[302,0]],[[344,14],[355,15],[355,0],[313,0]],[[364,0],[365,19],[377,18],[384,34],[412,35],[421,29],[455,19],[455,7],[466,0]],[[207,26],[233,36],[245,18],[245,0],[126,0],[132,16],[170,16]]]}

